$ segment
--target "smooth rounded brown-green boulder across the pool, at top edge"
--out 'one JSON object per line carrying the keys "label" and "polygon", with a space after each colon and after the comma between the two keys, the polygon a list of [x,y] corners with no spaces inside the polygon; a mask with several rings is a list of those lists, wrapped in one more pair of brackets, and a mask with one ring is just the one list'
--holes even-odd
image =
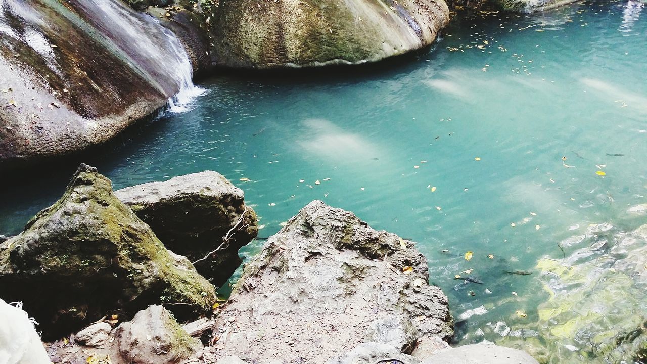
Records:
{"label": "smooth rounded brown-green boulder across the pool, at top edge", "polygon": [[210,29],[218,65],[272,69],[375,62],[448,21],[444,0],[221,0]]}

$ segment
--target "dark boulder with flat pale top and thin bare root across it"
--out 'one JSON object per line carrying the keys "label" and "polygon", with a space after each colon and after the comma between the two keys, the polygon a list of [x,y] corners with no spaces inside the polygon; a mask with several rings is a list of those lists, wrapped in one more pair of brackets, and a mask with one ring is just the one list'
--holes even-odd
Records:
{"label": "dark boulder with flat pale top and thin bare root across it", "polygon": [[144,183],[115,195],[168,249],[195,262],[199,273],[216,285],[240,266],[238,249],[258,234],[256,213],[245,206],[243,190],[217,172]]}

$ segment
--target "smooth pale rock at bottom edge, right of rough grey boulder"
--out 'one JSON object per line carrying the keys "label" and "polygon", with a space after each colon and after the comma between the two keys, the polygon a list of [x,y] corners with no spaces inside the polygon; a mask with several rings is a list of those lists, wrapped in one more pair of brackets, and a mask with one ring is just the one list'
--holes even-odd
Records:
{"label": "smooth pale rock at bottom edge, right of rough grey boulder", "polygon": [[492,344],[464,345],[427,358],[421,364],[538,364],[521,350]]}

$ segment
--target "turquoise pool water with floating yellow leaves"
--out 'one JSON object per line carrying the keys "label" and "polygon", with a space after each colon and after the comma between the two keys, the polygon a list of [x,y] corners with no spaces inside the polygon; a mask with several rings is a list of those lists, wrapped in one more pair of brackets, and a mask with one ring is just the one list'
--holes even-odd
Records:
{"label": "turquoise pool water with floating yellow leaves", "polygon": [[[495,323],[532,334],[549,299],[538,260],[586,249],[565,242],[599,224],[647,223],[628,211],[647,203],[646,13],[599,1],[459,14],[433,50],[397,65],[219,76],[192,111],[155,120],[93,164],[115,188],[221,172],[245,190],[260,236],[313,199],[352,210],[418,242],[455,317],[487,311],[457,323],[457,343],[505,344]],[[73,169],[5,191],[0,233],[58,198]]]}

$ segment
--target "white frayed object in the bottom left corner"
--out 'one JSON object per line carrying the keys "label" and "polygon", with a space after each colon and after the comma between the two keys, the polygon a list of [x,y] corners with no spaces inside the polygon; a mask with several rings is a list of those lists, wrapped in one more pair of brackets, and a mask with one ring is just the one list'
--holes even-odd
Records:
{"label": "white frayed object in the bottom left corner", "polygon": [[21,306],[0,299],[0,364],[50,364],[34,323]]}

